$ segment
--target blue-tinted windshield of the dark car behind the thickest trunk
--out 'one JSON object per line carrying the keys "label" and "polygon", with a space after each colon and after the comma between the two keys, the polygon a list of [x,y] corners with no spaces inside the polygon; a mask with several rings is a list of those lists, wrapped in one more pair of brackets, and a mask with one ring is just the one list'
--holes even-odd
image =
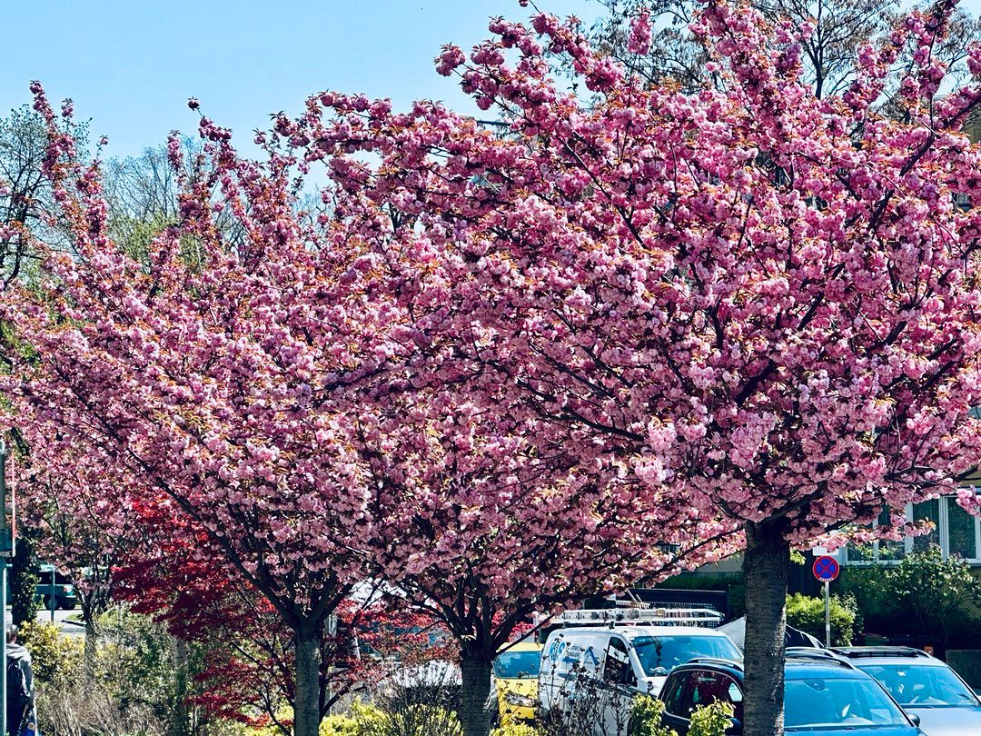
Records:
{"label": "blue-tinted windshield of the dark car behind the thickest trunk", "polygon": [[784,726],[875,728],[908,726],[902,710],[871,679],[806,677],[789,679],[784,690]]}

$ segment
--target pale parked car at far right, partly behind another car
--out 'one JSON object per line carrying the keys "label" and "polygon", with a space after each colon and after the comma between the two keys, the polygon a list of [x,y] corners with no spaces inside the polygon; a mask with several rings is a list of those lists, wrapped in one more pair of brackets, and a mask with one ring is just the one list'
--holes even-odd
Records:
{"label": "pale parked car at far right, partly behind another car", "polygon": [[906,712],[919,716],[927,736],[981,736],[981,699],[945,662],[909,647],[843,647]]}

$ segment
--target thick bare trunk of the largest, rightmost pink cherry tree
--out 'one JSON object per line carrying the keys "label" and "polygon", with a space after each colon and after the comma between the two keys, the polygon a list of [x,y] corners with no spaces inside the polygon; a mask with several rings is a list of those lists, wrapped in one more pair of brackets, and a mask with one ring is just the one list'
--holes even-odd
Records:
{"label": "thick bare trunk of the largest, rightmost pink cherry tree", "polygon": [[772,524],[746,525],[744,736],[784,732],[784,631],[790,546]]}

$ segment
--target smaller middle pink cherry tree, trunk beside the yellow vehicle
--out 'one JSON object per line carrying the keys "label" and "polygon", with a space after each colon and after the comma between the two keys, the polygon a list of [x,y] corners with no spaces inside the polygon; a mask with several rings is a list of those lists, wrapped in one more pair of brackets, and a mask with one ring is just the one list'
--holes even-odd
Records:
{"label": "smaller middle pink cherry tree, trunk beside the yellow vehicle", "polygon": [[[450,366],[466,375],[466,361]],[[716,560],[735,535],[676,505],[638,514],[636,480],[619,459],[566,432],[546,443],[536,413],[502,411],[504,376],[473,373],[461,384],[444,370],[433,395],[387,402],[373,423],[361,420],[359,447],[377,480],[378,517],[399,520],[380,526],[374,577],[395,605],[449,632],[463,733],[487,736],[492,660],[536,612]]]}

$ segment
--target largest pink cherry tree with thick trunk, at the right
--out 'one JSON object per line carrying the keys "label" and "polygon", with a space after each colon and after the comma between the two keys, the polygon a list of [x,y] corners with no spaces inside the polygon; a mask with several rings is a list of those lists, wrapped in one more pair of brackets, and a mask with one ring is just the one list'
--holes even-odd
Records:
{"label": "largest pink cherry tree with thick trunk, at the right", "polygon": [[[438,59],[510,136],[333,93],[280,122],[338,187],[412,218],[451,285],[456,349],[509,404],[623,458],[639,507],[742,528],[749,734],[782,730],[791,547],[953,492],[976,465],[979,215],[954,195],[981,181],[959,132],[981,92],[939,93],[952,11],[864,45],[834,98],[802,77],[809,26],[714,2],[693,31],[723,83],[692,93],[539,14]],[[648,42],[642,23],[631,44]],[[910,47],[901,121],[878,106]],[[590,100],[549,79],[546,53]],[[976,47],[967,64],[981,72]]]}

